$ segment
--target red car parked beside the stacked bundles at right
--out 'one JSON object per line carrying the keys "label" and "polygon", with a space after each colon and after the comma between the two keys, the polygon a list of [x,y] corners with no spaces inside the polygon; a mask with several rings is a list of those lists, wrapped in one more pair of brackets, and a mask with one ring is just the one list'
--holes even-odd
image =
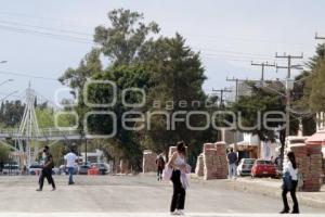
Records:
{"label": "red car parked beside the stacked bundles at right", "polygon": [[276,177],[275,165],[271,161],[257,159],[251,168],[251,178],[255,177]]}

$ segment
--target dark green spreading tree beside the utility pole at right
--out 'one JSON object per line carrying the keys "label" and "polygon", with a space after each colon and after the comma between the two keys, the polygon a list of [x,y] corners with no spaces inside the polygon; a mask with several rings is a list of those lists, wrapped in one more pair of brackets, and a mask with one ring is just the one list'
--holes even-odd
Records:
{"label": "dark green spreading tree beside the utility pole at right", "polygon": [[[268,86],[268,82],[265,85]],[[283,103],[283,99],[278,93],[269,91],[268,88],[258,88],[253,82],[249,84],[249,86],[251,87],[251,94],[239,97],[238,101],[231,105],[230,110],[235,114],[242,114],[238,122],[244,127],[257,127],[251,129],[237,127],[237,129],[243,132],[258,135],[261,141],[275,141],[280,139],[282,145],[281,158],[283,159],[286,139],[286,123],[283,118],[286,111],[285,103]],[[284,92],[283,90],[280,91]],[[272,115],[264,116],[268,112],[281,112],[283,115],[273,113]],[[259,114],[261,118],[258,118]],[[264,125],[265,118],[277,118],[277,120],[268,122]],[[297,131],[296,127],[290,125],[290,135]]]}

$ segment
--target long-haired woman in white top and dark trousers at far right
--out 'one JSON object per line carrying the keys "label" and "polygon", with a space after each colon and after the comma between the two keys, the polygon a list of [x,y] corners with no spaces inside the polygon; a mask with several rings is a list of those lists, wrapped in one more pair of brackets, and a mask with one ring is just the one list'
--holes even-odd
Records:
{"label": "long-haired woman in white top and dark trousers at far right", "polygon": [[287,193],[290,192],[291,199],[294,202],[294,207],[291,214],[299,214],[299,204],[296,196],[296,189],[298,186],[298,169],[297,163],[294,152],[288,152],[287,161],[283,165],[283,191],[282,191],[282,199],[284,208],[281,214],[289,213],[290,208],[288,205]]}

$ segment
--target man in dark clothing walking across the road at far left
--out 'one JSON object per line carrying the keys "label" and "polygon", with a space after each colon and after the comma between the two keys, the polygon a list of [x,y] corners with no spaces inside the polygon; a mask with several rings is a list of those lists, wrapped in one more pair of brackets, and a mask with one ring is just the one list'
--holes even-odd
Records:
{"label": "man in dark clothing walking across the road at far left", "polygon": [[52,168],[54,167],[53,156],[50,153],[50,148],[44,146],[44,165],[42,167],[42,171],[39,178],[39,189],[37,191],[42,191],[44,184],[44,178],[48,179],[49,183],[52,184],[52,191],[55,191],[55,183],[52,177]]}

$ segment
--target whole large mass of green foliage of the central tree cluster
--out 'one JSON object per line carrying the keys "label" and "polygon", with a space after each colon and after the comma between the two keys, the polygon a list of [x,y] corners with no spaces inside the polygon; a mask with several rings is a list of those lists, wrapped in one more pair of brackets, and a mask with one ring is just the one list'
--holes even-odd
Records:
{"label": "whole large mass of green foliage of the central tree cluster", "polygon": [[[129,111],[146,113],[162,110],[172,114],[180,110],[185,112],[207,110],[204,106],[207,95],[202,89],[206,77],[199,53],[186,47],[185,40],[179,34],[171,38],[154,38],[153,35],[159,31],[158,25],[154,22],[144,23],[143,15],[138,12],[114,10],[108,13],[108,20],[109,27],[95,28],[94,41],[99,49],[91,52],[91,55],[88,54],[79,67],[69,68],[60,78],[62,84],[68,85],[79,93],[79,104],[76,111],[80,119],[83,118],[86,112],[90,111],[80,94],[84,81],[91,78],[110,80],[116,84],[117,102],[115,105],[96,108],[96,111],[110,111],[116,114],[116,137],[104,141],[93,140],[92,143],[100,142],[108,158],[127,158],[135,170],[141,167],[143,149],[162,152],[178,140],[186,141],[190,153],[196,156],[202,143],[217,139],[216,130],[192,131],[185,127],[184,123],[177,123],[176,130],[167,130],[164,118],[157,116],[152,119],[152,130],[139,132],[125,129],[121,126],[121,118]],[[109,66],[105,69],[100,64],[101,54],[109,61]],[[123,105],[121,92],[127,88],[145,90],[145,106],[133,108]],[[112,89],[105,85],[89,86],[88,99],[92,103],[112,102]],[[142,94],[128,93],[126,101],[139,103]],[[159,101],[161,107],[157,108],[155,101]],[[169,101],[174,104],[170,110],[165,107]],[[181,107],[180,101],[186,101],[188,105]],[[192,101],[198,101],[200,106],[192,105]],[[205,120],[196,116],[191,122],[203,125]],[[138,125],[136,122],[128,123],[129,127]],[[107,135],[113,130],[112,117],[92,115],[89,117],[88,128],[91,133]]]}

